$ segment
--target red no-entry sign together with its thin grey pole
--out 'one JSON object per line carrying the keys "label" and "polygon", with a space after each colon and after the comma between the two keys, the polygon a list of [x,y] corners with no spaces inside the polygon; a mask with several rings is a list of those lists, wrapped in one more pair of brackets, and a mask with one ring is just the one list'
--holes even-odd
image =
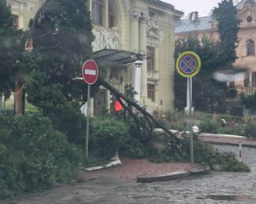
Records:
{"label": "red no-entry sign together with its thin grey pole", "polygon": [[88,84],[87,90],[87,117],[86,117],[86,135],[85,135],[85,156],[88,159],[88,141],[89,141],[89,117],[90,117],[90,85],[93,85],[98,79],[98,66],[94,60],[86,60],[82,67],[82,76],[84,82]]}

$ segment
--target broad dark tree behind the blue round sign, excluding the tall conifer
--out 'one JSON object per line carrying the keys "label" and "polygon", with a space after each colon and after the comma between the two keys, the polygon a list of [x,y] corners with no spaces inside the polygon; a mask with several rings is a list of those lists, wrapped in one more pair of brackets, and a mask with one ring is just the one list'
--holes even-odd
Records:
{"label": "broad dark tree behind the blue round sign, excluding the tall conifer", "polygon": [[[219,56],[219,43],[213,42],[207,37],[202,41],[196,37],[188,37],[187,40],[179,39],[176,42],[176,58],[178,54],[191,50],[201,58],[201,71],[193,77],[193,102],[197,111],[224,112],[227,98],[224,82],[216,82],[212,74],[225,62]],[[186,105],[187,79],[177,72],[175,76],[175,104],[178,110],[183,110]]]}

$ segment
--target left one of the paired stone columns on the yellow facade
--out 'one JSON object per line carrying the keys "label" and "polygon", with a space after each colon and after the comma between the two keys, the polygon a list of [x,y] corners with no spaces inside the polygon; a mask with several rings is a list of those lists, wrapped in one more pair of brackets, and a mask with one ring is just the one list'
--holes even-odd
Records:
{"label": "left one of the paired stone columns on the yellow facade", "polygon": [[[130,33],[130,43],[131,43],[131,51],[138,50],[138,27],[139,27],[139,14],[136,11],[131,12],[131,33]],[[130,81],[131,85],[135,87],[135,65],[131,67],[130,71]]]}

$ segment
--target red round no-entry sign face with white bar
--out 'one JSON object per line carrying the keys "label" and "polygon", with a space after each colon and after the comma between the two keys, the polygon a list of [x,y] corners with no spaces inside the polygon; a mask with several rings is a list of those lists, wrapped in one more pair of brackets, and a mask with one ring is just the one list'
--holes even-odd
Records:
{"label": "red round no-entry sign face with white bar", "polygon": [[98,79],[98,66],[96,62],[92,59],[86,60],[82,67],[82,76],[84,82],[89,85],[94,84]]}

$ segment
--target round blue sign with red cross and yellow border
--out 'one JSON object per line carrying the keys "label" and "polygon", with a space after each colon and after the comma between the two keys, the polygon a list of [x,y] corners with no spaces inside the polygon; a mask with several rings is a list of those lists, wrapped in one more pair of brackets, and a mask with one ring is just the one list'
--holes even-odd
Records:
{"label": "round blue sign with red cross and yellow border", "polygon": [[201,59],[194,52],[183,52],[177,59],[176,69],[183,77],[195,77],[201,69]]}

